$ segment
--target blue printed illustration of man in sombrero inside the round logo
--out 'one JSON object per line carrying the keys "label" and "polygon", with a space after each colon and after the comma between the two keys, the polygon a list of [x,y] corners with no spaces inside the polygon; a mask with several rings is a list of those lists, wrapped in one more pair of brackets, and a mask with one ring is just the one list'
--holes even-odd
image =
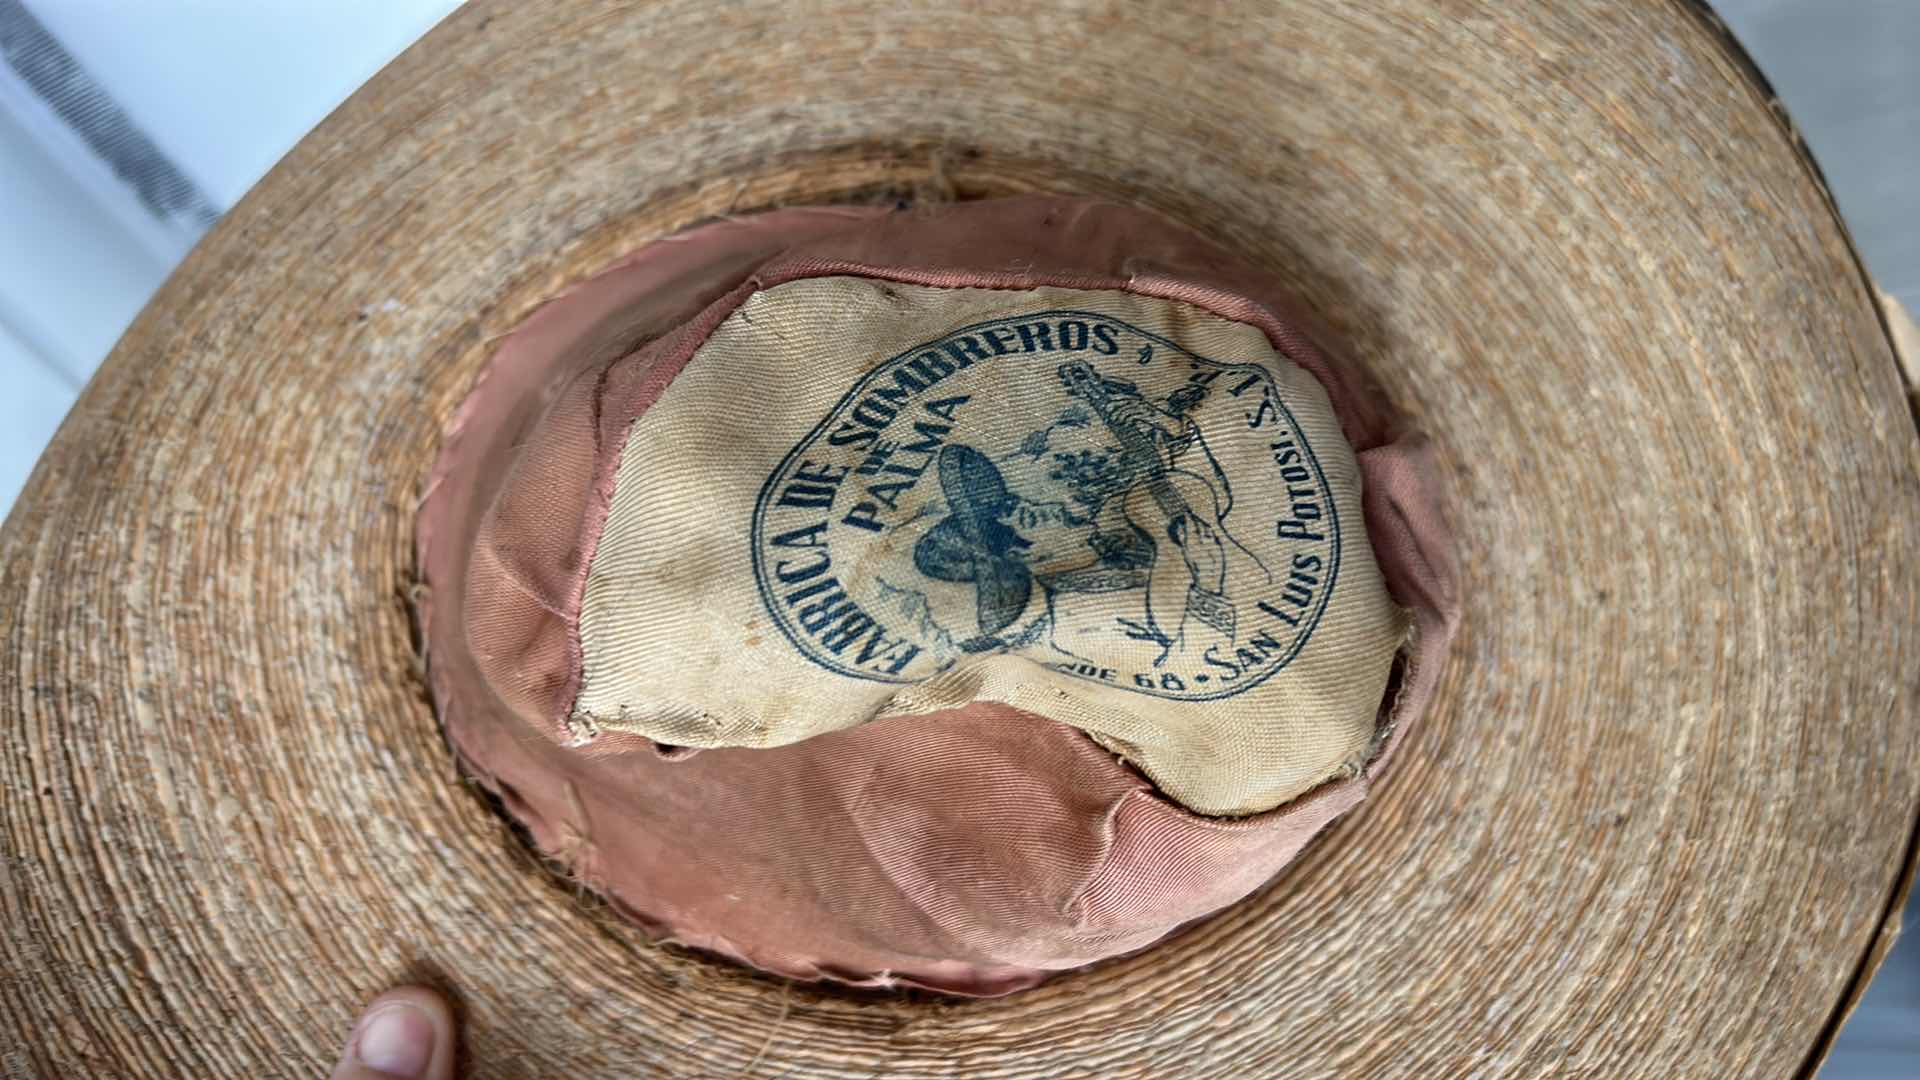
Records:
{"label": "blue printed illustration of man in sombrero inside the round logo", "polygon": [[[1231,582],[1271,575],[1227,530],[1233,488],[1190,417],[1208,388],[1190,382],[1156,405],[1085,361],[1064,363],[1060,380],[1085,409],[1068,409],[1054,429],[1081,429],[1091,440],[1050,454],[1044,486],[1056,498],[1012,490],[1006,471],[973,446],[941,448],[947,515],[914,546],[914,567],[973,586],[972,626],[952,640],[962,651],[1044,640],[1092,663],[1144,644],[1154,667],[1231,646]],[[1037,432],[1008,457],[1037,459],[1046,442]]]}

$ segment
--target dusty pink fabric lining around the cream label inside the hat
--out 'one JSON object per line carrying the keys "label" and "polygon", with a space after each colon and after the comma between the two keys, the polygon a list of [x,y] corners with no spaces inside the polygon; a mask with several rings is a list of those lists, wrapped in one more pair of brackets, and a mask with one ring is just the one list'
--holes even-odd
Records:
{"label": "dusty pink fabric lining around the cream label inside the hat", "polygon": [[[1367,771],[1271,813],[1204,819],[1079,730],[985,703],[778,749],[660,753],[622,732],[580,746],[564,721],[580,596],[626,430],[753,290],[839,273],[1183,300],[1260,327],[1313,373],[1359,455],[1388,586],[1415,613]],[[774,211],[645,248],[507,340],[428,484],[428,661],[455,753],[632,919],[797,978],[1008,994],[1244,897],[1365,798],[1457,623],[1430,448],[1279,296],[1156,215],[1044,196]]]}

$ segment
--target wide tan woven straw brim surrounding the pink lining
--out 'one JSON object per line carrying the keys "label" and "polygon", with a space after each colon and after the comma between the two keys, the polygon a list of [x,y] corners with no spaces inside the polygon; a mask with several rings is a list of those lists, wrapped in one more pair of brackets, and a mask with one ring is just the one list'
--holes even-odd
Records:
{"label": "wide tan woven straw brim surrounding the pink lining", "polygon": [[[447,753],[447,421],[682,227],[1020,192],[1212,236],[1434,440],[1432,707],[1273,884],[1021,994],[655,944]],[[474,4],[188,258],[6,523],[0,1065],[315,1074],[424,978],[482,1076],[1791,1072],[1910,884],[1916,467],[1872,284],[1692,4]],[[927,565],[989,626],[1020,573],[952,505]]]}

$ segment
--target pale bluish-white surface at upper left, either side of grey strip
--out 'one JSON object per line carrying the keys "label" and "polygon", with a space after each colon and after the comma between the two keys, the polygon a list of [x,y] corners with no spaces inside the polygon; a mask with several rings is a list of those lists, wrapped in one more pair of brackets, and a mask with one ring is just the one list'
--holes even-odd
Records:
{"label": "pale bluish-white surface at upper left, either side of grey strip", "polygon": [[[457,6],[27,0],[219,209]],[[69,161],[0,110],[0,513],[94,367],[173,269],[69,173]]]}

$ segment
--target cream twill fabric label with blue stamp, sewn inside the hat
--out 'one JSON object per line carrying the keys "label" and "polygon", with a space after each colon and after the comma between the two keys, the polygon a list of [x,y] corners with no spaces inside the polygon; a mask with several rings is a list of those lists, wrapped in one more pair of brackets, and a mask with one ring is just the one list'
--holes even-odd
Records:
{"label": "cream twill fabric label with blue stamp, sewn inside the hat", "polygon": [[780,746],[1002,701],[1242,815],[1363,761],[1404,636],[1327,396],[1258,329],[803,279],[634,425],[574,721]]}

